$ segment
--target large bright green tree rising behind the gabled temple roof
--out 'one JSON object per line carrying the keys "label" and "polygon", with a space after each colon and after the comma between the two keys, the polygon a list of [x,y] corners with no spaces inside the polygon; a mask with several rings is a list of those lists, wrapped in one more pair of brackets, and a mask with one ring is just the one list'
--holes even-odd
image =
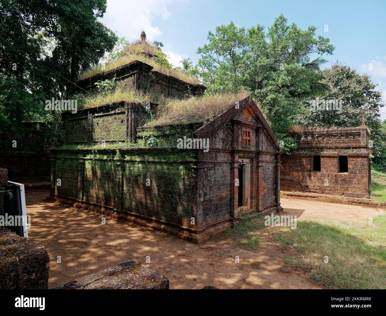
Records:
{"label": "large bright green tree rising behind the gabled temple roof", "polygon": [[301,100],[323,95],[329,89],[318,71],[325,59],[311,61],[315,54],[332,54],[329,39],[317,36],[316,27],[301,30],[280,15],[266,31],[264,26],[245,29],[233,22],[208,32],[208,44],[195,72],[208,86],[207,92],[237,92],[246,89],[260,103],[276,133],[293,123]]}

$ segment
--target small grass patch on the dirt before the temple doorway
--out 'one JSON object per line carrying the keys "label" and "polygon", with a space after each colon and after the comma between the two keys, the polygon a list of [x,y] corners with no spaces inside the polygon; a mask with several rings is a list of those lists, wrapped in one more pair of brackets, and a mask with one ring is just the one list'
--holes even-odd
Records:
{"label": "small grass patch on the dirt before the temple doorway", "polygon": [[251,217],[252,214],[240,217],[239,224],[234,228],[226,230],[224,234],[227,237],[236,239],[240,246],[256,250],[260,245],[260,238],[256,234],[256,230],[265,226],[263,216]]}

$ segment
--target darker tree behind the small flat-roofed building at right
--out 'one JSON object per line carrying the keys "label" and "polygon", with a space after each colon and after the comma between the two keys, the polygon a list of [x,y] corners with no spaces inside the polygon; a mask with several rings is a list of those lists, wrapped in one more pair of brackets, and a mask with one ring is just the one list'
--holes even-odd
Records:
{"label": "darker tree behind the small flat-roofed building at right", "polygon": [[[323,99],[327,104],[341,101],[341,110],[314,111],[309,102],[304,102],[296,119],[306,127],[357,127],[364,123],[370,129],[372,161],[379,169],[386,167],[386,133],[380,120],[380,108],[384,106],[382,92],[375,90],[376,84],[368,74],[360,75],[356,69],[336,62],[322,71],[331,91]],[[308,100],[312,101],[312,99]]]}

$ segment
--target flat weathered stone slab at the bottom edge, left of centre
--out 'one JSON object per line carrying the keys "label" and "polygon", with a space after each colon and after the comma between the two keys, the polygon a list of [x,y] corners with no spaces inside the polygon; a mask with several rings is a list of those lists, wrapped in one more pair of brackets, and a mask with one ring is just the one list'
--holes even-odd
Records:
{"label": "flat weathered stone slab at the bottom edge, left of centre", "polygon": [[169,279],[135,261],[128,261],[58,289],[169,289]]}

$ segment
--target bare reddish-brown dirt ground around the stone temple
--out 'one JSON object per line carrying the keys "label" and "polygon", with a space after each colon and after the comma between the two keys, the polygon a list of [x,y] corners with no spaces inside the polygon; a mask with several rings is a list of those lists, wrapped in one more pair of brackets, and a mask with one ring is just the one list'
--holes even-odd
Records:
{"label": "bare reddish-brown dirt ground around the stone temple", "polygon": [[[134,260],[169,278],[171,289],[317,289],[303,274],[283,266],[291,255],[272,240],[270,228],[260,229],[261,246],[244,249],[220,237],[193,244],[144,227],[106,218],[45,200],[48,192],[27,193],[31,216],[29,238],[44,245],[51,258],[49,288]],[[367,220],[385,210],[352,205],[282,199],[284,212],[304,219],[322,216]],[[57,262],[60,256],[61,263]],[[150,263],[146,263],[146,257]],[[235,257],[239,257],[239,263]]]}

